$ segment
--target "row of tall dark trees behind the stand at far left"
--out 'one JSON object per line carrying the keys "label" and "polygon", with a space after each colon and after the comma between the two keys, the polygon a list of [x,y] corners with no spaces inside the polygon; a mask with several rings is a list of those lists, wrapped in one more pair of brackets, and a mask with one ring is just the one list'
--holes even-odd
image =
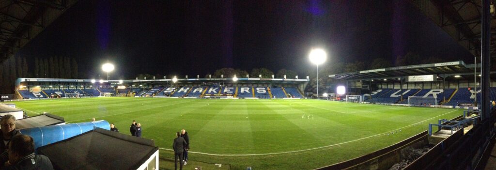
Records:
{"label": "row of tall dark trees behind the stand at far left", "polygon": [[[13,56],[0,63],[0,94],[14,93],[15,80],[24,78],[79,78],[77,61],[68,57],[34,59],[34,67],[26,57]],[[33,62],[32,60],[30,61]]]}

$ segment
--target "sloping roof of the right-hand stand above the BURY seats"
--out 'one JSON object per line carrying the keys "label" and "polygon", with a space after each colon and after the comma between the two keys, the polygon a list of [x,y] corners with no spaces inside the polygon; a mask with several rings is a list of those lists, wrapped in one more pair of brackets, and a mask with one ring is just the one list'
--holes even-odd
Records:
{"label": "sloping roof of the right-hand stand above the BURY seats", "polygon": [[[480,66],[480,64],[477,64],[478,68]],[[473,75],[474,64],[465,64],[463,61],[451,61],[332,74],[329,77],[343,80],[368,80],[373,78],[400,78],[409,75],[429,74],[444,75],[444,77],[450,75]]]}

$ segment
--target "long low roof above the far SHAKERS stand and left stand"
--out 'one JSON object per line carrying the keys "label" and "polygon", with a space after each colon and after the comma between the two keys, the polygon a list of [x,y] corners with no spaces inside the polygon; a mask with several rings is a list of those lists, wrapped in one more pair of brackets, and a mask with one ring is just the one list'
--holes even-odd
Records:
{"label": "long low roof above the far SHAKERS stand and left stand", "polygon": [[[95,80],[97,83],[100,80]],[[102,80],[104,83],[118,84],[123,83],[150,83],[164,84],[171,83],[172,79],[151,79],[151,80]],[[180,84],[201,83],[201,82],[233,82],[233,78],[178,78]],[[273,83],[273,84],[300,84],[310,81],[309,79],[292,79],[292,78],[238,78],[236,83]],[[56,78],[17,78],[15,86],[21,82],[61,82],[61,83],[91,83],[91,79],[56,79]]]}

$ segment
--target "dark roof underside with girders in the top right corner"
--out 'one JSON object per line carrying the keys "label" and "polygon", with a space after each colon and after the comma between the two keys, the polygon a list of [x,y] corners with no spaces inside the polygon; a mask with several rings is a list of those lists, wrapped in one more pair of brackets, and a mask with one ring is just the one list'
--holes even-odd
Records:
{"label": "dark roof underside with girders in the top right corner", "polygon": [[[494,2],[494,0],[491,0]],[[474,56],[481,52],[481,0],[411,0],[424,15]],[[491,12],[491,56],[496,55],[495,11]]]}

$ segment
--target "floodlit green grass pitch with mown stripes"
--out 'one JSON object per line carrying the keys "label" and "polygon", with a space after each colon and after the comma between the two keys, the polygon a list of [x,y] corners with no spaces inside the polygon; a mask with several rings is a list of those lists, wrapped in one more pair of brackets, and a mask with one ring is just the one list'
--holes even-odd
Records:
{"label": "floodlit green grass pitch with mown stripes", "polygon": [[161,169],[174,168],[169,149],[175,132],[185,128],[191,142],[186,170],[195,166],[203,170],[319,168],[387,147],[426,130],[428,123],[462,113],[456,109],[280,99],[111,97],[9,103],[31,116],[53,113],[69,123],[104,119],[124,134],[129,134],[129,125],[136,120],[142,124],[143,137],[155,140],[161,148]]}

